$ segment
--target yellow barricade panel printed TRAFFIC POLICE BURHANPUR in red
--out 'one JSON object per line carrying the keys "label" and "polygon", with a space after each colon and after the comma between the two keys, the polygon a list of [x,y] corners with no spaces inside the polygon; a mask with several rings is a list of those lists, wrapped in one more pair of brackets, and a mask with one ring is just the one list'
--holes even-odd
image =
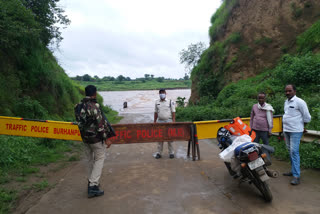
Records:
{"label": "yellow barricade panel printed TRAFFIC POLICE BURHANPUR in red", "polygon": [[28,120],[2,116],[0,116],[0,135],[82,141],[78,126],[72,122]]}

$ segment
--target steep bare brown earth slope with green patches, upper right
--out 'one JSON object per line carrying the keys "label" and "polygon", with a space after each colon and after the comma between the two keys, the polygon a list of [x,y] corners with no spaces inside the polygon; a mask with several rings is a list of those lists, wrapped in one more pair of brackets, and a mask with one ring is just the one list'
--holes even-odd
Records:
{"label": "steep bare brown earth slope with green patches, upper right", "polygon": [[[216,97],[228,83],[274,67],[283,54],[295,53],[297,36],[319,19],[319,0],[225,0],[211,20],[210,47],[193,69],[191,101]],[[207,78],[214,81],[206,85]]]}

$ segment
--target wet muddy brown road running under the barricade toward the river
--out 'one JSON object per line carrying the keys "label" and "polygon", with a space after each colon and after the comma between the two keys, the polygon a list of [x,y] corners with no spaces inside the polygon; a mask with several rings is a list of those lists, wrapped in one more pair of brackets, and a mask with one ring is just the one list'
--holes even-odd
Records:
{"label": "wet muddy brown road running under the barricade toward the river", "polygon": [[[149,116],[124,115],[122,122],[146,122]],[[148,122],[148,121],[147,121]],[[165,147],[166,149],[167,147]],[[152,156],[156,144],[113,145],[107,152],[101,187],[105,195],[87,198],[86,162],[80,161],[27,213],[319,213],[320,172],[302,170],[301,185],[290,178],[269,180],[272,203],[265,203],[253,185],[238,185],[218,158],[213,140],[202,140],[202,160],[186,158],[187,142],[175,142],[176,158]],[[289,164],[274,161],[273,169]]]}

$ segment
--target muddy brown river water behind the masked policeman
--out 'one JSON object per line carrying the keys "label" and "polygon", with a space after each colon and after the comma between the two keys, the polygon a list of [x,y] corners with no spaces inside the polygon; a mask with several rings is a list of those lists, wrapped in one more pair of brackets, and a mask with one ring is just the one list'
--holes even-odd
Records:
{"label": "muddy brown river water behind the masked policeman", "polygon": [[[141,91],[100,91],[103,97],[103,104],[119,114],[148,114],[153,115],[155,100],[159,99],[158,90]],[[167,90],[167,98],[176,101],[178,97],[185,97],[187,102],[191,95],[191,89]],[[128,107],[123,108],[123,103],[127,102]]]}

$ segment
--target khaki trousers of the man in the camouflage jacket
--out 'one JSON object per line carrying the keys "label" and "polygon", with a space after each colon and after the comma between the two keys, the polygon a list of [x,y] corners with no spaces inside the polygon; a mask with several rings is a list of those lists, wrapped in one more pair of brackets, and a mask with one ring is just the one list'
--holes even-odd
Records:
{"label": "khaki trousers of the man in the camouflage jacket", "polygon": [[88,160],[88,181],[90,186],[99,185],[104,159],[106,157],[106,145],[103,142],[85,145],[85,154]]}

